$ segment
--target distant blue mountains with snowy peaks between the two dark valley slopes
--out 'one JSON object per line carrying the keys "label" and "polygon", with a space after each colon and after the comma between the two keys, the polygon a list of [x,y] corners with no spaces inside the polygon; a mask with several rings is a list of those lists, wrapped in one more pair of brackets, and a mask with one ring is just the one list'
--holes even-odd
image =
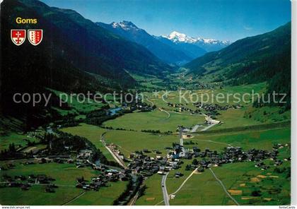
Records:
{"label": "distant blue mountains with snowy peaks between the two dark valley slopes", "polygon": [[182,65],[206,52],[219,50],[230,44],[213,39],[194,39],[179,32],[172,32],[168,36],[154,36],[126,20],[120,23],[96,24],[127,40],[141,44],[168,64]]}

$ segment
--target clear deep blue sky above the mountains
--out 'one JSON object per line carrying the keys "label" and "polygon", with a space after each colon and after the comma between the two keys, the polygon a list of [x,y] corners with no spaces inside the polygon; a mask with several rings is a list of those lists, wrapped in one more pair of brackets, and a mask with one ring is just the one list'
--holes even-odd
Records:
{"label": "clear deep blue sky above the mountains", "polygon": [[41,0],[71,8],[93,22],[132,21],[151,35],[174,30],[192,37],[235,41],[291,20],[289,0]]}

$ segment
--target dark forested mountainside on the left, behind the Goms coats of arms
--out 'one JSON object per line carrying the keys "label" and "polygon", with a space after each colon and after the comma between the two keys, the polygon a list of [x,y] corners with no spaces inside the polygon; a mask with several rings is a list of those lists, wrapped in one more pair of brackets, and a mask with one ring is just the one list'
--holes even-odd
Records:
{"label": "dark forested mountainside on the left, behind the Goms coats of arms", "polygon": [[[16,24],[17,17],[34,17],[37,24]],[[11,42],[11,28],[42,29],[43,40],[37,46],[28,40],[16,46]],[[16,92],[49,94],[45,88],[106,92],[135,86],[127,72],[163,77],[166,71],[172,68],[145,47],[110,33],[75,11],[35,0],[1,3],[1,112],[7,115],[45,119],[52,112],[42,104],[16,104]]]}

